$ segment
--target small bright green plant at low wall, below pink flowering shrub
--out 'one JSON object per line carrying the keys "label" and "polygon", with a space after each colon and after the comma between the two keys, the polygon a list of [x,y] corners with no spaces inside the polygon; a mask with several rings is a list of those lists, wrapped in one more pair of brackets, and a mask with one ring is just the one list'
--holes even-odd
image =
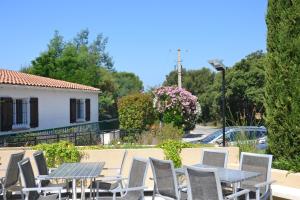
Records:
{"label": "small bright green plant at low wall, below pink flowering shrub", "polygon": [[189,143],[182,143],[178,140],[167,140],[159,145],[163,149],[166,160],[172,160],[176,168],[181,167],[180,153],[183,148],[192,147]]}

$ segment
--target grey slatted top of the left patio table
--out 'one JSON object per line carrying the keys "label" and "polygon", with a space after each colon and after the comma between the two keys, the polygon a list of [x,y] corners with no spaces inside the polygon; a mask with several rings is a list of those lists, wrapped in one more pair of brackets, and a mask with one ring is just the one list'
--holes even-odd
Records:
{"label": "grey slatted top of the left patio table", "polygon": [[53,179],[85,179],[100,175],[104,162],[98,163],[64,163],[49,174]]}

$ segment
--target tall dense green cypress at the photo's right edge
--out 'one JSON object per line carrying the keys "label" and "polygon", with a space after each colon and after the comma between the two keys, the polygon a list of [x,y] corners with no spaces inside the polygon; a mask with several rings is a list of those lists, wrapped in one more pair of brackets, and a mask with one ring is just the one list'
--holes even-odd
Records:
{"label": "tall dense green cypress at the photo's right edge", "polygon": [[269,151],[300,155],[300,1],[269,0],[265,107]]}

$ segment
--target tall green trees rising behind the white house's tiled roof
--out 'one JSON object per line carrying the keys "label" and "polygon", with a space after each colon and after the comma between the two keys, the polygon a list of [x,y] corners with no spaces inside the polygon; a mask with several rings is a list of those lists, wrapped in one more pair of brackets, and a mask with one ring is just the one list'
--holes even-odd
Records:
{"label": "tall green trees rising behind the white house's tiled roof", "polygon": [[92,42],[87,29],[65,41],[58,31],[31,66],[21,71],[99,88],[99,118],[116,118],[116,99],[127,92],[140,91],[143,84],[133,73],[116,72],[106,51],[108,39],[98,34]]}

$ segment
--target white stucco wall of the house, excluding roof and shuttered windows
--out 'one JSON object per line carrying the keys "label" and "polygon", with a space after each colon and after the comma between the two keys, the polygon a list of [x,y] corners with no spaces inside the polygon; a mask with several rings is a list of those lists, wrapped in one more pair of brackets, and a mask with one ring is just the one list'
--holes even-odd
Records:
{"label": "white stucco wall of the house, excluding roof and shuttered windows", "polygon": [[[43,130],[77,124],[70,123],[71,98],[90,99],[91,120],[87,123],[98,121],[98,92],[0,84],[0,97],[38,98],[39,127],[30,130]],[[0,133],[6,134],[7,132]]]}

